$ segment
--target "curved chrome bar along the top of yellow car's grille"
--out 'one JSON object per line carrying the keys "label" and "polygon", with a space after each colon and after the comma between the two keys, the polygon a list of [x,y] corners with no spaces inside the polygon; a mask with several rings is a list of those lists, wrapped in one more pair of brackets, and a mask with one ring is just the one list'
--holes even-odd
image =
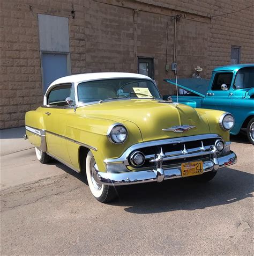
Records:
{"label": "curved chrome bar along the top of yellow car's grille", "polygon": [[140,148],[152,147],[156,145],[165,145],[165,144],[174,144],[174,143],[183,143],[189,141],[198,141],[198,140],[205,140],[207,138],[221,138],[218,134],[201,134],[201,135],[194,135],[194,136],[186,136],[186,137],[177,137],[177,138],[169,138],[165,140],[159,141],[148,141],[148,142],[141,142],[138,144],[132,145],[128,148],[121,157],[114,158],[114,159],[104,159],[104,163],[114,163],[119,161],[126,161],[128,160],[128,156],[133,150],[137,150]]}

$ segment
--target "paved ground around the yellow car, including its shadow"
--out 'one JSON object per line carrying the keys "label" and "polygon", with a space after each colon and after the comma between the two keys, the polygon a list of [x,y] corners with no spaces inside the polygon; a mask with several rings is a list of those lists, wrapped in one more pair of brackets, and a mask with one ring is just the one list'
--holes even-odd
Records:
{"label": "paved ground around the yellow car, including its shadow", "polygon": [[253,253],[254,150],[245,136],[231,137],[237,164],[207,184],[125,186],[102,204],[83,175],[40,164],[23,134],[1,131],[2,254]]}

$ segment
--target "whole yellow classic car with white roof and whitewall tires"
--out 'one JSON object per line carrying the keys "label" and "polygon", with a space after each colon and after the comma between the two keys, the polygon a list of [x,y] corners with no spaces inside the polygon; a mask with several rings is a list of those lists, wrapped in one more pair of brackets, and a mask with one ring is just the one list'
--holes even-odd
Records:
{"label": "whole yellow classic car with white roof and whitewall tires", "polygon": [[162,100],[155,82],[139,74],[59,78],[25,123],[38,160],[84,172],[100,202],[115,198],[114,186],[190,176],[205,182],[237,161],[230,113]]}

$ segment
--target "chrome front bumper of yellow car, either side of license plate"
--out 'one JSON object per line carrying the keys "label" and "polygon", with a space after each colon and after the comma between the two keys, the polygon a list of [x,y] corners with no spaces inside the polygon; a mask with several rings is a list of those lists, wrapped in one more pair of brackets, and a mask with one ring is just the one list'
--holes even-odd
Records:
{"label": "chrome front bumper of yellow car, either side of license plate", "polygon": [[[209,160],[203,163],[203,171],[211,172],[217,171],[220,168],[227,167],[229,165],[235,164],[237,162],[237,157],[233,151],[230,151],[229,155],[219,156],[213,160]],[[96,170],[98,181],[104,185],[111,186],[122,186],[130,184],[139,184],[145,182],[182,178],[181,175],[181,165],[176,167],[171,167],[169,169],[159,170],[147,170],[147,171],[137,171],[137,172],[122,172],[122,173],[107,173],[99,172]]]}

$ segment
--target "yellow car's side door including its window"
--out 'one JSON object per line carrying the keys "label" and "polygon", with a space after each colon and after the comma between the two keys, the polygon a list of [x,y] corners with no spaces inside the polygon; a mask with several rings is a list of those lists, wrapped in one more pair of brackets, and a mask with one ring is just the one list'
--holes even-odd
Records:
{"label": "yellow car's side door including its window", "polygon": [[[71,164],[67,143],[66,123],[75,114],[74,87],[72,84],[59,84],[47,92],[47,106],[43,106],[43,119],[46,127],[47,151],[64,163]],[[71,97],[69,105],[65,99]]]}

